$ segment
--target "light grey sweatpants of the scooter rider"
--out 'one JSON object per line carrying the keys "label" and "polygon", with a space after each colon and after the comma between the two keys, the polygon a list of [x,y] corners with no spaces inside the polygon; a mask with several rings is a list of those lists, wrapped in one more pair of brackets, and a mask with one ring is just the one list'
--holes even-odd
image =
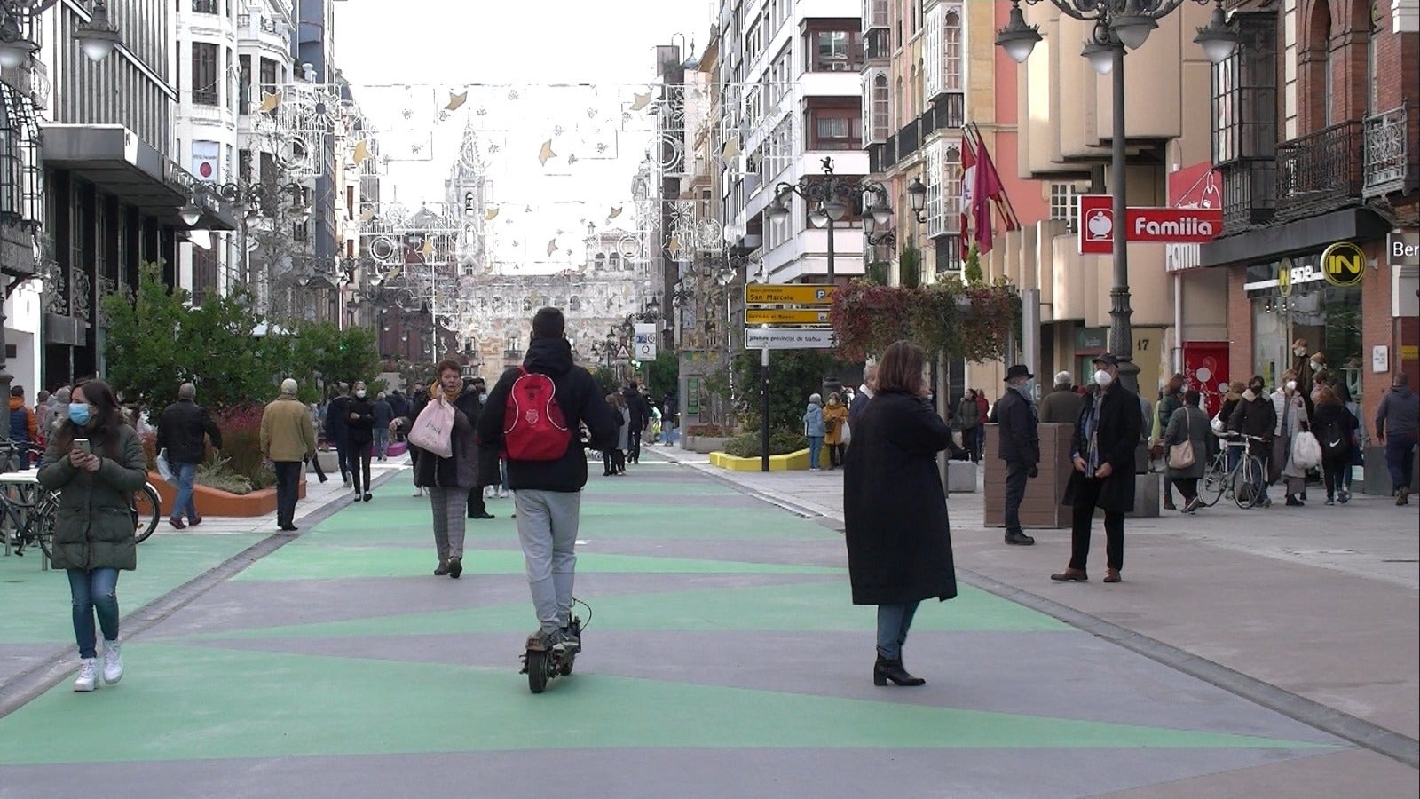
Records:
{"label": "light grey sweatpants of the scooter rider", "polygon": [[528,490],[514,495],[518,540],[527,560],[532,608],[544,633],[571,623],[581,492]]}

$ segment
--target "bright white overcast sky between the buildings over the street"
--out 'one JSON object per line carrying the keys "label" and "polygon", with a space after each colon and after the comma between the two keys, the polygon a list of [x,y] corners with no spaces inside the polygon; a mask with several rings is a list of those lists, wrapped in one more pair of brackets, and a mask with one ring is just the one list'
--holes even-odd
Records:
{"label": "bright white overcast sky between the buildings over the street", "polygon": [[[449,87],[467,84],[646,84],[656,80],[657,44],[684,41],[694,43],[697,50],[704,47],[713,9],[711,0],[346,0],[335,4],[335,63],[355,87],[365,115],[376,128],[388,131],[400,124],[402,109],[392,104],[405,92],[361,91],[361,87],[412,84],[442,104],[453,91]],[[567,169],[565,163],[555,162],[541,166],[537,159],[541,142],[551,136],[542,128],[552,127],[542,114],[552,112],[548,105],[555,104],[541,101],[540,114],[540,108],[527,101],[520,108],[503,102],[503,95],[490,100],[488,91],[476,91],[462,115],[419,125],[436,129],[432,146],[423,149],[429,158],[390,163],[385,199],[398,195],[406,205],[433,205],[443,199],[443,179],[457,158],[459,132],[476,105],[490,107],[483,119],[491,127],[511,129],[523,124],[535,128],[501,134],[506,152],[494,159],[506,163],[490,169],[503,176],[501,200],[521,205],[521,195],[588,196],[596,195],[595,186],[602,188],[602,195],[588,199],[588,205],[601,206],[604,199],[612,203],[626,196],[645,149],[629,136],[622,141],[616,162],[582,161],[575,176],[561,178],[561,183],[542,175],[510,179],[508,175],[523,175],[527,169],[544,173],[559,166]],[[500,115],[517,122],[487,122]],[[395,149],[395,139],[399,136],[381,138],[382,144],[390,142],[389,151]],[[513,193],[520,196],[510,196]],[[592,215],[605,216],[605,210],[582,212],[582,216]],[[575,213],[567,216],[575,223]],[[554,225],[568,226],[565,220]]]}

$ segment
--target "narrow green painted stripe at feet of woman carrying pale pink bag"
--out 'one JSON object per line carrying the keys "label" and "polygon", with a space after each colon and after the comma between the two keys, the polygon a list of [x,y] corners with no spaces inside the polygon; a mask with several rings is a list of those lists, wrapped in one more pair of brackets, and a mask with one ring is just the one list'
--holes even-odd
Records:
{"label": "narrow green painted stripe at feet of woman carrying pale pink bag", "polygon": [[[297,539],[300,542],[301,539]],[[517,542],[510,542],[515,545]],[[344,577],[413,577],[423,576],[435,566],[433,536],[427,549],[413,547],[351,547],[287,545],[237,574],[236,580],[325,580]],[[517,549],[467,550],[464,574],[523,574],[527,567]],[[841,574],[832,566],[798,566],[791,563],[748,563],[736,560],[696,560],[690,557],[649,557],[639,554],[577,554],[579,573],[611,572],[639,574]]]}

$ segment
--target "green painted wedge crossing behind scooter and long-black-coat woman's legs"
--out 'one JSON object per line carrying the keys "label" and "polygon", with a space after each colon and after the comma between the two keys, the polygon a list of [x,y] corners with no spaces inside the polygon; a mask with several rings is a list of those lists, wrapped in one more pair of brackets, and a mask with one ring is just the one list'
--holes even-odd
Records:
{"label": "green painted wedge crossing behind scooter and long-black-coat woman's legs", "polygon": [[[605,597],[588,596],[592,627],[598,630],[653,631],[870,631],[873,606],[849,604],[842,580],[787,586],[746,586],[697,590],[662,590]],[[825,611],[825,608],[832,608]],[[204,633],[196,638],[305,638],[361,636],[453,636],[514,633],[535,627],[531,600],[429,613],[400,613],[342,621],[283,624],[231,633]],[[994,594],[963,587],[947,603],[924,603],[913,631],[1072,631],[1034,610]]]}

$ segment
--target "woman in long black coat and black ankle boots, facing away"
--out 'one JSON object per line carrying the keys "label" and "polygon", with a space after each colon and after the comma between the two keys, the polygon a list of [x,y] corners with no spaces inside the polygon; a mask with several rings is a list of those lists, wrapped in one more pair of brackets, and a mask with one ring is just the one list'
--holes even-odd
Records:
{"label": "woman in long black coat and black ankle boots, facing away", "polygon": [[924,401],[922,348],[897,341],[878,368],[878,392],[853,425],[843,462],[843,523],[853,604],[878,606],[873,684],[922,685],[902,665],[917,603],[957,596],[947,498],[937,452],[951,428]]}

